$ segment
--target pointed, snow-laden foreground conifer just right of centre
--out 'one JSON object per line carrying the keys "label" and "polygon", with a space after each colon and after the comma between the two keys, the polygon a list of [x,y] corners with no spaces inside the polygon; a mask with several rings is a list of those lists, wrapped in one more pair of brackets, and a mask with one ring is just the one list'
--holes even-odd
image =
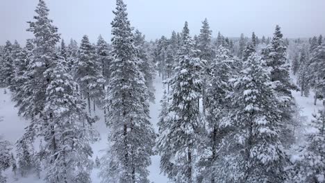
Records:
{"label": "pointed, snow-laden foreground conifer just right of centre", "polygon": [[[170,119],[160,131],[160,168],[174,182],[194,182],[195,157],[202,128],[197,101],[201,97],[201,60],[196,57],[188,23],[185,22],[178,53],[178,67],[170,81]],[[160,123],[160,128],[163,124]]]}

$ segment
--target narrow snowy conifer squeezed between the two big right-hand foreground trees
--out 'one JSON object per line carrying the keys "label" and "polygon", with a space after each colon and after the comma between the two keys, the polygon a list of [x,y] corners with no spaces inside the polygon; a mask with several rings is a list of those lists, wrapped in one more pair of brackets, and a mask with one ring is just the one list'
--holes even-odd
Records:
{"label": "narrow snowy conifer squeezed between the two big right-hand foreground trees", "polygon": [[226,98],[231,92],[228,80],[233,76],[233,56],[228,49],[219,46],[216,58],[210,64],[208,87],[207,87],[207,138],[202,147],[201,158],[199,161],[201,178],[206,182],[218,182],[215,164],[218,164],[218,147],[222,142],[226,131],[219,129],[222,118],[228,114],[229,100]]}

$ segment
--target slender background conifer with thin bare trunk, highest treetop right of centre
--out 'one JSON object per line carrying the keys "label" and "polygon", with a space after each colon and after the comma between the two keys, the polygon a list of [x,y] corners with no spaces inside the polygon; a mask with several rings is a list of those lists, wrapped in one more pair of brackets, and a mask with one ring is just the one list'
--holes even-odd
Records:
{"label": "slender background conifer with thin bare trunk, highest treetop right of centre", "polygon": [[199,35],[199,43],[198,49],[201,51],[199,53],[199,58],[201,60],[205,60],[206,64],[204,65],[202,78],[203,78],[203,86],[202,86],[202,107],[203,107],[203,115],[206,114],[206,87],[207,87],[207,76],[208,76],[208,66],[213,62],[213,46],[211,45],[211,34],[210,26],[208,23],[208,19],[204,19],[202,22],[202,28],[200,30]]}

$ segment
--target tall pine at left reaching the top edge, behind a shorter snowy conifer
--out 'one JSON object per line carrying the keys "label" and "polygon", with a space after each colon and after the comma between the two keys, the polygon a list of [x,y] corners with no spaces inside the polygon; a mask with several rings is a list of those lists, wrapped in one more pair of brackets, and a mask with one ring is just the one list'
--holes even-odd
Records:
{"label": "tall pine at left reaching the top edge, behind a shorter snowy conifer", "polygon": [[[45,103],[45,90],[49,85],[49,76],[44,75],[49,69],[52,60],[56,58],[56,44],[59,42],[58,28],[52,25],[49,19],[49,9],[45,2],[40,0],[35,10],[35,21],[29,21],[28,31],[34,34],[33,50],[27,66],[24,84],[24,101],[18,103],[19,113],[29,119],[42,117]],[[32,121],[31,125],[35,121]],[[30,128],[32,129],[32,128]]]}

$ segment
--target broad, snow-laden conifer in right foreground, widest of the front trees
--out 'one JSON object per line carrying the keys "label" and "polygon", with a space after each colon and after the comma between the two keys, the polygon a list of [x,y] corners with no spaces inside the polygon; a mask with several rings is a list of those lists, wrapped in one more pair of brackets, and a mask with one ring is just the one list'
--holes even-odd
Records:
{"label": "broad, snow-laden conifer in right foreground, widest of the front trees", "polygon": [[269,67],[254,53],[231,83],[231,110],[219,123],[227,131],[216,177],[220,182],[283,182],[288,159],[278,134],[283,125],[278,106],[285,98],[276,96]]}

